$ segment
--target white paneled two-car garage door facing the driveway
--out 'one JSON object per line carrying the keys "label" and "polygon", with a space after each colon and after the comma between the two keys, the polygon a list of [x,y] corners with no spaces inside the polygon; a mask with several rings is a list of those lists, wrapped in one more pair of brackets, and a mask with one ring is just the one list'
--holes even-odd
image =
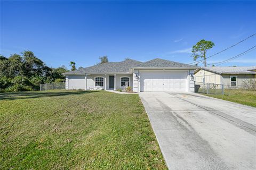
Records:
{"label": "white paneled two-car garage door facing the driveway", "polygon": [[187,91],[187,71],[140,71],[140,91]]}

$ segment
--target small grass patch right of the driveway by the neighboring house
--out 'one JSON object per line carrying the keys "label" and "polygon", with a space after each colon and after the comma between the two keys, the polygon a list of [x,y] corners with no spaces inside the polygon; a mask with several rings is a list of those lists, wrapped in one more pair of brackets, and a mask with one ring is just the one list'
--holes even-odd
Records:
{"label": "small grass patch right of the driveway by the neighboring house", "polygon": [[215,97],[223,100],[233,101],[239,104],[256,107],[256,91],[245,89],[224,89],[224,94],[204,94],[206,96]]}

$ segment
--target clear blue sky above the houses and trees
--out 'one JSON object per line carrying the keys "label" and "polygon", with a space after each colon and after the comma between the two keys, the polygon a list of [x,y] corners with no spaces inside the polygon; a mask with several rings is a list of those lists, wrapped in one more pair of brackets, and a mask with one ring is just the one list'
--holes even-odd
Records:
{"label": "clear blue sky above the houses and trees", "polygon": [[[107,55],[193,62],[201,39],[215,46],[208,56],[256,33],[256,2],[1,1],[0,54],[29,49],[47,65],[70,61],[90,66]],[[219,62],[256,45],[256,36],[209,58]],[[256,65],[256,50],[221,66]]]}

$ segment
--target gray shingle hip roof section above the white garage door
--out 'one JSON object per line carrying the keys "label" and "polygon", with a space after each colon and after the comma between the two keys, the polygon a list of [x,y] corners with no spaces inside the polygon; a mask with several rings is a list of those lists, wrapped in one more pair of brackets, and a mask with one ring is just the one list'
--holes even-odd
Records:
{"label": "gray shingle hip roof section above the white garage door", "polygon": [[172,67],[172,68],[198,68],[195,65],[189,65],[189,64],[183,64],[183,63],[178,63],[178,62],[173,62],[169,60],[163,60],[161,58],[155,58],[154,60],[147,61],[145,63],[141,63],[136,65],[134,68],[161,68],[161,67]]}

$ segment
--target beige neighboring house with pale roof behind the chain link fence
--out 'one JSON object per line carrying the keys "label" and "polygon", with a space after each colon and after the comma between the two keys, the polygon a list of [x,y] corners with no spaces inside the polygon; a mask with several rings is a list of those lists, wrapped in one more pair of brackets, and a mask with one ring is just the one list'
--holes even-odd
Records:
{"label": "beige neighboring house with pale roof behind the chain link fence", "polygon": [[247,80],[256,80],[256,66],[202,67],[195,71],[196,82],[224,84],[225,88],[242,87]]}

